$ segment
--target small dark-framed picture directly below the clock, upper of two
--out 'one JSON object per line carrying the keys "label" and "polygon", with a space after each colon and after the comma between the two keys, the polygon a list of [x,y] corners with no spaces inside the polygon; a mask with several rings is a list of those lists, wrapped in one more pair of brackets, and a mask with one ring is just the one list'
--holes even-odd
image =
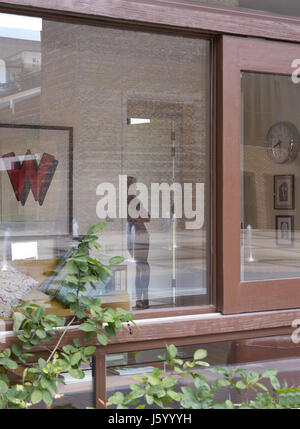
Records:
{"label": "small dark-framed picture directly below the clock, upper of two", "polygon": [[295,209],[295,176],[278,175],[274,176],[274,209],[294,210]]}

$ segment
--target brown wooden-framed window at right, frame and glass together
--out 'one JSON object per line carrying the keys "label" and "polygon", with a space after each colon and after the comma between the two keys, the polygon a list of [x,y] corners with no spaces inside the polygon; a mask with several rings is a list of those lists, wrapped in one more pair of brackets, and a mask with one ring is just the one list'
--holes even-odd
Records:
{"label": "brown wooden-framed window at right, frame and glass together", "polygon": [[224,37],[221,310],[300,307],[300,46]]}

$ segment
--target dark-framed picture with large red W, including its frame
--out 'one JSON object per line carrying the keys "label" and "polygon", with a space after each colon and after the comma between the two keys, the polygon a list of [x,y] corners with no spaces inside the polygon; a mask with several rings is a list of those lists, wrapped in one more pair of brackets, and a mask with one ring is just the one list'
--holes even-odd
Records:
{"label": "dark-framed picture with large red W, including its frame", "polygon": [[73,129],[0,124],[0,237],[70,235]]}

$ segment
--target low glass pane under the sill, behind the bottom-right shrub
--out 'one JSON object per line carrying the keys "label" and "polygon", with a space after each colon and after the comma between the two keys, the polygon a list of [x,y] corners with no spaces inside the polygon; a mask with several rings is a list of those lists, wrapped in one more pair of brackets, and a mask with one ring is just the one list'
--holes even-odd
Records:
{"label": "low glass pane under the sill, behind the bottom-right shrub", "polygon": [[[196,367],[194,370],[203,374],[210,385],[216,378],[220,378],[220,375],[213,373],[214,366],[225,367],[231,371],[243,368],[247,373],[254,370],[259,374],[267,369],[273,369],[278,371],[277,376],[281,385],[287,383],[292,387],[300,383],[299,344],[293,343],[290,335],[183,346],[178,348],[178,357],[191,360],[193,353],[200,348],[207,350],[205,361],[210,364],[210,368]],[[107,399],[116,392],[127,395],[131,391],[130,385],[138,383],[134,376],[141,377],[141,374],[150,373],[154,368],[163,369],[163,364],[157,356],[165,353],[164,349],[156,349],[107,355]],[[170,375],[179,378],[179,386],[190,386],[195,390],[191,377]],[[262,384],[271,389],[271,385],[265,380]],[[255,400],[256,396],[257,392],[251,389],[242,390],[237,394],[235,389],[225,387],[216,393],[215,399],[220,402],[230,399],[234,404],[241,404]],[[172,407],[174,408],[174,404]],[[130,405],[130,408],[135,406]],[[156,406],[146,404],[146,408]]]}

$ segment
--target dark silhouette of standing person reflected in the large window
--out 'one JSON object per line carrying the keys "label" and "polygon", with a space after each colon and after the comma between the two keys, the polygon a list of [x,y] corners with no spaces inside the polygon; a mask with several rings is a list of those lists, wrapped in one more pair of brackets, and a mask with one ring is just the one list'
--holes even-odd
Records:
{"label": "dark silhouette of standing person reflected in the large window", "polygon": [[[136,178],[128,176],[127,191],[134,183],[136,183]],[[127,196],[127,248],[131,257],[136,262],[136,308],[144,310],[149,308],[148,287],[150,281],[150,266],[148,264],[148,255],[150,240],[145,222],[150,221],[150,216],[148,215],[148,217],[145,218],[138,217],[135,219],[129,215],[128,206],[134,198],[136,198],[135,195]],[[137,206],[138,210],[141,210],[140,204],[141,203]]]}

